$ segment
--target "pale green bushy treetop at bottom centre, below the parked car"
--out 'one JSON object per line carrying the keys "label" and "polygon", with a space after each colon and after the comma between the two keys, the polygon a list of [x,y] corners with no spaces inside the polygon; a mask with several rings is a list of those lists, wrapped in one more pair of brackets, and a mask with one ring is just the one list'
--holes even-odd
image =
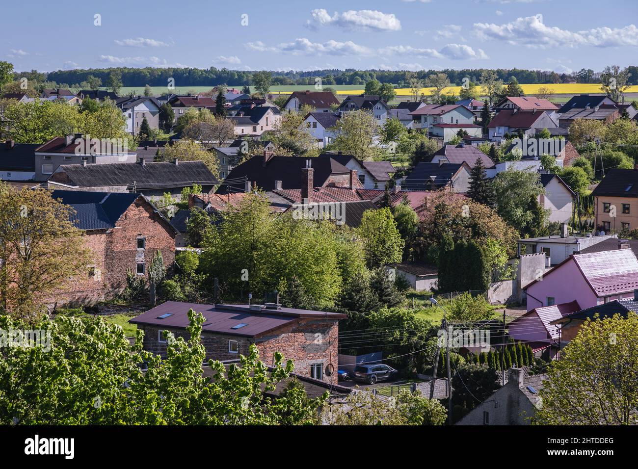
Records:
{"label": "pale green bushy treetop at bottom centre, below the parked car", "polygon": [[447,419],[439,401],[406,389],[389,399],[355,392],[347,405],[329,407],[328,421],[333,425],[443,425]]}

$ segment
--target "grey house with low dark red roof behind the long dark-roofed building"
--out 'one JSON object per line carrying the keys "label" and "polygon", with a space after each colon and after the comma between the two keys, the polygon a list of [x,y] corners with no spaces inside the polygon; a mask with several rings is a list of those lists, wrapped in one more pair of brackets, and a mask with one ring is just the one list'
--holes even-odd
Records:
{"label": "grey house with low dark red roof behind the long dark-roofed building", "polygon": [[54,137],[34,150],[35,179],[46,181],[61,165],[104,165],[135,163],[137,151],[128,140],[98,140],[76,133]]}

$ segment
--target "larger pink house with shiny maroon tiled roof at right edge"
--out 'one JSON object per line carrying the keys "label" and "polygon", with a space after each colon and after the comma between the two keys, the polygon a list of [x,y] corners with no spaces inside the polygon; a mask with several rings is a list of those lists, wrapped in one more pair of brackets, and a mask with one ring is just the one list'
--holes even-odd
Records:
{"label": "larger pink house with shiny maroon tiled roof at right edge", "polygon": [[638,288],[638,260],[632,249],[574,254],[523,289],[527,310],[578,301],[591,308],[633,298]]}

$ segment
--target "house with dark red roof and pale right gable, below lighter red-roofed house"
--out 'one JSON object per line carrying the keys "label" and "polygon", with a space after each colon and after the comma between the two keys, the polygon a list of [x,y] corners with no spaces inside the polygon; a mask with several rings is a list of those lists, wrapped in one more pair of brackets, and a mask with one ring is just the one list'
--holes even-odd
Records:
{"label": "house with dark red roof and pale right gable, below lighter red-roofed house", "polygon": [[487,124],[489,139],[493,142],[506,140],[506,135],[522,134],[523,137],[535,137],[543,129],[555,127],[558,127],[558,123],[548,112],[535,109],[531,111],[501,110]]}

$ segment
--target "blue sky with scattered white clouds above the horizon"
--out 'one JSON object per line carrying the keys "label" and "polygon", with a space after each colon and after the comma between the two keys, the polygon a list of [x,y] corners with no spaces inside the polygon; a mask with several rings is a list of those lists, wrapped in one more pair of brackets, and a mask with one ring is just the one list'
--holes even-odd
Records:
{"label": "blue sky with scattered white clouds above the horizon", "polygon": [[2,12],[0,60],[18,71],[638,64],[636,0],[24,0]]}

